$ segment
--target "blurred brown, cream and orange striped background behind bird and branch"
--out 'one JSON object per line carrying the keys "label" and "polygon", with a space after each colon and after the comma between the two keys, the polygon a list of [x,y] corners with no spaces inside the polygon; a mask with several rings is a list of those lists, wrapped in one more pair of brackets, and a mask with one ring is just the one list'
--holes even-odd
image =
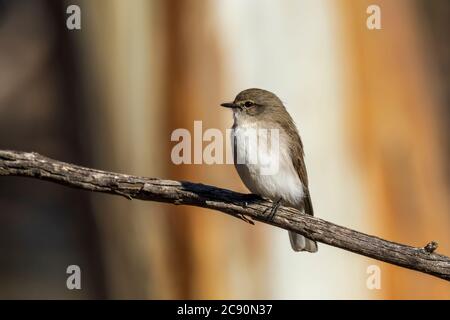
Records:
{"label": "blurred brown, cream and orange striped background behind bird and branch", "polygon": [[[317,216],[450,255],[449,15],[447,0],[0,0],[0,148],[247,192],[232,165],[172,164],[170,135],[194,120],[225,132],[219,104],[260,87],[298,125]],[[296,254],[284,230],[206,209],[0,178],[0,298],[450,298],[443,280],[319,247]]]}

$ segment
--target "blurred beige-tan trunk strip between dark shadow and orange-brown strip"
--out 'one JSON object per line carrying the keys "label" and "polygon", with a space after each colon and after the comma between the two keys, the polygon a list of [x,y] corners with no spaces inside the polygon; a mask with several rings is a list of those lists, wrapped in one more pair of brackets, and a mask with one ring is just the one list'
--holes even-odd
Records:
{"label": "blurred beige-tan trunk strip between dark shadow and orange-brown strip", "polygon": [[[83,74],[99,168],[165,176],[164,34],[156,1],[81,1]],[[100,14],[101,13],[101,14]],[[174,298],[167,206],[95,197],[111,298]]]}

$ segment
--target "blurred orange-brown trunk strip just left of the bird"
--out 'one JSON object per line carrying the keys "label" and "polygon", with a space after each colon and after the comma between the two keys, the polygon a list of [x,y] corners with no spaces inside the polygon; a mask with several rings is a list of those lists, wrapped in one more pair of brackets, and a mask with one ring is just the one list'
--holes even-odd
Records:
{"label": "blurred orange-brown trunk strip just left of the bird", "polygon": [[[217,23],[210,3],[195,0],[165,3],[167,137],[177,128],[187,128],[193,134],[195,120],[202,121],[203,131],[223,129],[225,137],[224,129],[231,126],[231,115],[225,113],[229,121],[218,116],[223,87],[222,43],[217,36]],[[193,135],[191,138],[192,142],[202,139]],[[203,147],[205,145],[203,143]],[[231,150],[224,148],[223,151],[225,157],[225,153]],[[167,153],[163,159],[172,164],[169,155]],[[174,179],[233,189],[241,187],[232,165],[172,164],[170,172]],[[171,234],[176,239],[173,252],[177,253],[174,263],[178,268],[178,283],[181,284],[180,297],[251,298],[267,292],[268,284],[260,281],[265,264],[264,249],[257,245],[258,229],[252,230],[249,225],[221,215],[202,214],[204,209],[172,207],[171,211],[173,215],[169,217],[173,217],[170,225]]]}

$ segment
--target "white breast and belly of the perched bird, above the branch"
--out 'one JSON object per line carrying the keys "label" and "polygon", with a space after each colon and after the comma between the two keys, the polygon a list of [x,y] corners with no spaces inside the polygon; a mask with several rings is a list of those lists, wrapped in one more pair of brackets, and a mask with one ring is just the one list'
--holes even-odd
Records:
{"label": "white breast and belly of the perched bird, above the branch", "polygon": [[[242,181],[252,193],[274,201],[282,198],[285,204],[300,207],[304,197],[303,184],[292,163],[286,134],[279,129],[278,148],[271,148],[273,137],[276,136],[273,132],[261,130],[263,128],[256,124],[243,123],[235,126],[231,134],[232,139],[235,137],[233,151],[235,154],[237,152],[237,155],[249,153],[249,148],[243,143],[249,137],[248,129],[256,132],[258,143],[256,157],[250,156],[249,159],[249,156],[246,156],[243,157],[244,163],[235,164]],[[276,170],[268,170],[269,166]]]}

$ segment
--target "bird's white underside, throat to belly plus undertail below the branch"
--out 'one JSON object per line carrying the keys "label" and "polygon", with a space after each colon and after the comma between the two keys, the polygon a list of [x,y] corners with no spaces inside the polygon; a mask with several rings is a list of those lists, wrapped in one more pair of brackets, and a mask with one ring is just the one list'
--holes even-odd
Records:
{"label": "bird's white underside, throat to belly plus undertail below the branch", "polygon": [[[241,155],[240,160],[235,157],[235,161],[238,161],[235,166],[245,186],[254,194],[272,201],[281,199],[283,205],[302,210],[305,189],[291,159],[288,135],[282,128],[278,128],[278,139],[273,148],[273,133],[270,131],[273,126],[254,121],[236,112],[233,115],[234,126],[231,132],[231,141],[234,142],[233,152],[235,155]],[[242,157],[248,154],[246,143],[242,143],[248,137],[247,130],[253,130],[257,136],[257,139],[254,139],[257,140],[257,148],[255,152],[250,152],[253,155],[250,155],[250,159]],[[243,158],[247,161],[242,161]],[[270,170],[271,173],[268,174],[265,170],[268,164],[277,170]],[[317,252],[317,243],[311,239],[291,231],[289,239],[294,251]]]}

